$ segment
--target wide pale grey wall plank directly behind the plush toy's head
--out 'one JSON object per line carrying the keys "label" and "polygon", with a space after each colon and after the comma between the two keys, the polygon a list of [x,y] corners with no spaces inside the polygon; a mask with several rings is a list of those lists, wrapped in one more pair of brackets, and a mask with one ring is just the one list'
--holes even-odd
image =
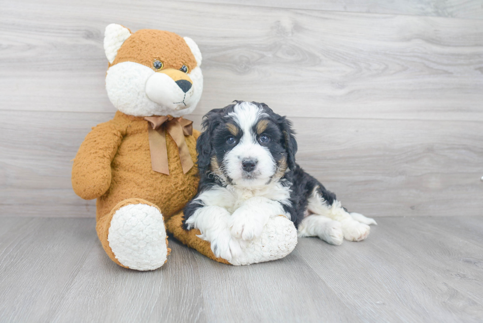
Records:
{"label": "wide pale grey wall plank directly behind the plush toy's head", "polygon": [[289,116],[483,120],[482,20],[151,0],[0,10],[1,109],[113,111],[102,44],[115,21],[198,42],[199,114],[239,99]]}

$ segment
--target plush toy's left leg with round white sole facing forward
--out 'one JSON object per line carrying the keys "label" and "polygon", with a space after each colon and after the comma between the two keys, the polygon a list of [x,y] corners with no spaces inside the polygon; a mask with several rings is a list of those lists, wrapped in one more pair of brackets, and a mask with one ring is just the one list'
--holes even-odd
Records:
{"label": "plush toy's left leg with round white sole facing forward", "polygon": [[125,268],[157,269],[171,252],[161,210],[143,199],[119,202],[96,229],[107,255]]}

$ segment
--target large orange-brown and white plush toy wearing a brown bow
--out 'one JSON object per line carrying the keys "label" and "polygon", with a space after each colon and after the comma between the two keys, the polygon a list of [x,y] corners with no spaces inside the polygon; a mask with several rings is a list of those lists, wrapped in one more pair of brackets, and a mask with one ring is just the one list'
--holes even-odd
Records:
{"label": "large orange-brown and white plush toy wearing a brown bow", "polygon": [[198,188],[196,140],[200,132],[183,116],[203,91],[202,55],[189,37],[110,24],[104,33],[109,62],[105,88],[114,118],[92,128],[73,160],[72,187],[97,199],[96,230],[115,263],[154,270],[167,262],[167,232],[207,257],[227,264],[274,260],[297,243],[283,216],[243,246],[237,259],[216,257],[197,229],[182,227],[185,204]]}

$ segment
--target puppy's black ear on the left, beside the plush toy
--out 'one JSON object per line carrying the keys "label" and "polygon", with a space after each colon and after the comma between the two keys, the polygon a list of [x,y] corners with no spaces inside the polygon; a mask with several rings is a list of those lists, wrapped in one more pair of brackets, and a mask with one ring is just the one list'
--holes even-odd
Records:
{"label": "puppy's black ear on the left, beside the plush toy", "polygon": [[198,137],[196,141],[196,152],[198,153],[198,169],[200,170],[200,174],[204,175],[209,170],[210,159],[211,159],[211,152],[213,150],[212,142],[212,135],[213,130],[220,124],[220,110],[222,109],[213,109],[209,111],[203,117],[203,133]]}

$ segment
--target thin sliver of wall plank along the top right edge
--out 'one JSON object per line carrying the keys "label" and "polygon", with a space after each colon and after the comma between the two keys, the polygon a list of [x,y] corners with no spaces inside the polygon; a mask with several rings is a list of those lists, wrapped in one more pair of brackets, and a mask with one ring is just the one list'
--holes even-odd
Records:
{"label": "thin sliver of wall plank along the top right edge", "polygon": [[421,0],[188,0],[189,2],[210,2],[243,4],[274,8],[308,10],[329,10],[366,13],[390,13],[400,15],[458,17],[483,19],[481,0],[421,1]]}

